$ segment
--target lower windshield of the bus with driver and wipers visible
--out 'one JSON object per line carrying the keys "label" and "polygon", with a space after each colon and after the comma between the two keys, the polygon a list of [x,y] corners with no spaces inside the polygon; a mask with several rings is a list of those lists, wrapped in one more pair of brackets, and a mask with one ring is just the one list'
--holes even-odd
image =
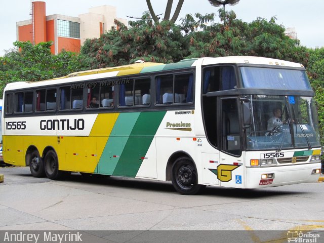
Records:
{"label": "lower windshield of the bus with driver and wipers visible", "polygon": [[315,100],[312,97],[253,95],[247,149],[319,147]]}

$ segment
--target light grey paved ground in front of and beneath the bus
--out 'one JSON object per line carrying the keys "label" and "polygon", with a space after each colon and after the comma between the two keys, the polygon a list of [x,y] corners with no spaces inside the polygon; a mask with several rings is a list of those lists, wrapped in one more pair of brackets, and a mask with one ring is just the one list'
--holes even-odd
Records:
{"label": "light grey paved ground in front of and beneath the bus", "polygon": [[323,230],[324,183],[180,195],[169,182],[0,168],[0,230]]}

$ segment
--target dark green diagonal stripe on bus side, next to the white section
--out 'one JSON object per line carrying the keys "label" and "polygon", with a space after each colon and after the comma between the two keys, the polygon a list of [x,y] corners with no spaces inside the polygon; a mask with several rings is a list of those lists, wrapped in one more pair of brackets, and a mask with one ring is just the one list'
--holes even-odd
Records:
{"label": "dark green diagonal stripe on bus side, next to the white section", "polygon": [[140,114],[113,175],[136,176],[142,165],[142,157],[147,153],[165,114],[166,111],[142,112]]}

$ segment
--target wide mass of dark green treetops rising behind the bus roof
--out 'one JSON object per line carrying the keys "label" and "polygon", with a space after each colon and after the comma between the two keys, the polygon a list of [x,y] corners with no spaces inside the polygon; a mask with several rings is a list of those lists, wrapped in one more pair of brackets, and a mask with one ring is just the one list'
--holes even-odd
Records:
{"label": "wide mass of dark green treetops rising behind the bus roof", "polygon": [[275,18],[258,18],[251,23],[236,19],[233,11],[215,14],[187,14],[181,24],[153,22],[148,12],[142,19],[88,39],[82,48],[91,68],[124,65],[138,59],[151,62],[178,62],[185,58],[220,56],[262,56],[307,65],[307,49],[285,35]]}

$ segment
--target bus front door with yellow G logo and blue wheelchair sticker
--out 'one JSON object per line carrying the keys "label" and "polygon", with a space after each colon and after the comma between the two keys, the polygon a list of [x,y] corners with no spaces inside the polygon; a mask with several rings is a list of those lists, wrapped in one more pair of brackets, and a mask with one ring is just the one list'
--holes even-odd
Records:
{"label": "bus front door with yellow G logo and blue wheelchair sticker", "polygon": [[244,187],[244,155],[241,150],[241,129],[237,98],[219,98],[218,136],[220,144],[217,178],[221,186]]}

